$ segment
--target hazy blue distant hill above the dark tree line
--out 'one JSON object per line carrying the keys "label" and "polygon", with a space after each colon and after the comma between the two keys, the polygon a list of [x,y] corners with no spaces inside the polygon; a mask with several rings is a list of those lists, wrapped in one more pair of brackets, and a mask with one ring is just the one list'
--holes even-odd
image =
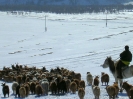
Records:
{"label": "hazy blue distant hill above the dark tree line", "polygon": [[133,0],[0,0],[0,5],[123,5]]}

